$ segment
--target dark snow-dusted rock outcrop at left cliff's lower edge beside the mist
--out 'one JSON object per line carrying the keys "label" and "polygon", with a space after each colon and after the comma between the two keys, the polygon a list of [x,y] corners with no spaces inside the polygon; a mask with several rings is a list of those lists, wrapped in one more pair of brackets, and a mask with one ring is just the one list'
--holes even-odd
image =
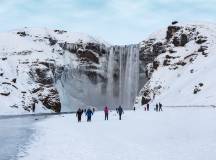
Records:
{"label": "dark snow-dusted rock outcrop at left cliff's lower edge beside the mist", "polygon": [[[63,70],[63,66],[55,66],[49,60],[46,62],[35,62],[29,72],[31,78],[40,86],[33,88],[31,93],[37,94],[42,104],[55,112],[61,111],[61,102],[59,93],[54,87],[54,81],[61,77]],[[32,110],[32,105],[27,107],[28,110],[29,108]]]}

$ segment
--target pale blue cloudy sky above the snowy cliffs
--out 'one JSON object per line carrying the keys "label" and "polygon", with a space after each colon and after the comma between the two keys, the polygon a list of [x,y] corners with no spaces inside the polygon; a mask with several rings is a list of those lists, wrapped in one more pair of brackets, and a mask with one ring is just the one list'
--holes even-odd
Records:
{"label": "pale blue cloudy sky above the snowy cliffs", "polygon": [[137,43],[173,20],[216,21],[216,0],[0,0],[0,31],[47,27]]}

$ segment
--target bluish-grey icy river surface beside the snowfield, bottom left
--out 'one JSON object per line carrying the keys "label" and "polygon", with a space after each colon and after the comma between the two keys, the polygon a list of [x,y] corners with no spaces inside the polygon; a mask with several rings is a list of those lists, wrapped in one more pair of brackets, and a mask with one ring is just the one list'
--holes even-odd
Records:
{"label": "bluish-grey icy river surface beside the snowfield, bottom left", "polygon": [[[44,118],[44,117],[40,117]],[[0,116],[0,159],[16,160],[18,152],[24,152],[35,133],[35,117],[7,118]]]}

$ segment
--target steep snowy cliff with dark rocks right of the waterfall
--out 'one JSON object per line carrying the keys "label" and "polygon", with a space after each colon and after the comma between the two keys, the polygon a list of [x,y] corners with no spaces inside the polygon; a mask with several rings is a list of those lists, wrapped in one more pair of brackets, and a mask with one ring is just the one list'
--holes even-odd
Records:
{"label": "steep snowy cliff with dark rocks right of the waterfall", "polygon": [[149,81],[137,103],[144,97],[145,103],[214,104],[216,94],[210,88],[214,88],[215,42],[215,25],[177,22],[143,41],[140,56]]}

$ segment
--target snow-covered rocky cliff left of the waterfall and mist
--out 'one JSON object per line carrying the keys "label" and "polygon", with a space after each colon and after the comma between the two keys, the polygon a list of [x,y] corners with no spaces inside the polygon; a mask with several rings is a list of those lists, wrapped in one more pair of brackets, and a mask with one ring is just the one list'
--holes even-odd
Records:
{"label": "snow-covered rocky cliff left of the waterfall and mist", "polygon": [[1,112],[60,112],[57,82],[71,66],[81,69],[92,83],[104,79],[96,71],[102,67],[106,49],[88,35],[62,30],[24,28],[1,33]]}

